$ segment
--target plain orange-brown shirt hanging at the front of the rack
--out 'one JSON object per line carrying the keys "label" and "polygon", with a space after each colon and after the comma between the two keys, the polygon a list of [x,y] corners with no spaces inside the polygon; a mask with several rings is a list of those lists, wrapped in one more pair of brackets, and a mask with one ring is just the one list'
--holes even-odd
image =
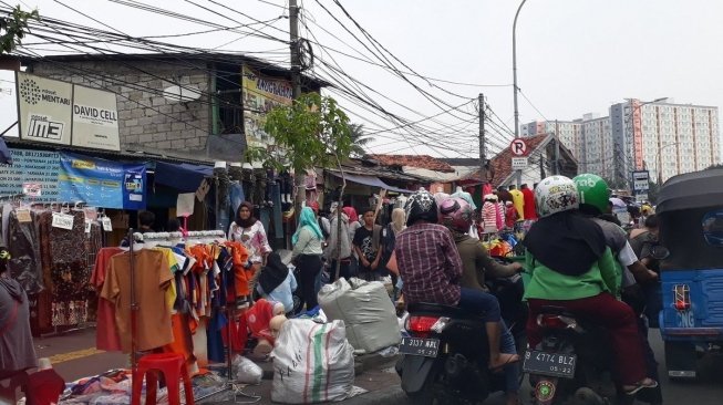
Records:
{"label": "plain orange-brown shirt hanging at the front of the rack", "polygon": [[[124,352],[131,350],[131,260],[130,252],[111,258],[101,297],[115,307],[115,325]],[[137,350],[146,351],[173,342],[172,308],[166,299],[173,274],[166,256],[142,249],[134,255],[135,299],[137,309]]]}

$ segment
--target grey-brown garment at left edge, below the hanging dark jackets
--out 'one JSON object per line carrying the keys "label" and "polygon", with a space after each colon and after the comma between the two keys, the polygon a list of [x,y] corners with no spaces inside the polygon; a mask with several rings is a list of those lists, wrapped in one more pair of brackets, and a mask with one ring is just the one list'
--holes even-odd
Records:
{"label": "grey-brown garment at left edge, below the hanging dark jackets", "polygon": [[0,276],[0,372],[34,366],[28,295],[18,281]]}

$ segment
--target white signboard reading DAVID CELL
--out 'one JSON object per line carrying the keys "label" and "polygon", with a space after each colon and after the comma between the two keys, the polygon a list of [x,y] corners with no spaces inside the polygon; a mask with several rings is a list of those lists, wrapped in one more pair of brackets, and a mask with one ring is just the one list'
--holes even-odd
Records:
{"label": "white signboard reading DAVID CELL", "polygon": [[115,94],[74,85],[72,132],[74,146],[120,150]]}

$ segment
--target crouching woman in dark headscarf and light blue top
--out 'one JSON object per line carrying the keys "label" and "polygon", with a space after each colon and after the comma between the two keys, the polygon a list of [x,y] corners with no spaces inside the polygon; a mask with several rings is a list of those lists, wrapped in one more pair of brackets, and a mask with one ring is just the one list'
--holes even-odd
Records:
{"label": "crouching woman in dark headscarf and light blue top", "polygon": [[266,260],[264,271],[259,276],[256,290],[269,301],[283,304],[287,314],[293,310],[293,291],[297,289],[297,279],[293,272],[283,264],[277,252],[271,252]]}

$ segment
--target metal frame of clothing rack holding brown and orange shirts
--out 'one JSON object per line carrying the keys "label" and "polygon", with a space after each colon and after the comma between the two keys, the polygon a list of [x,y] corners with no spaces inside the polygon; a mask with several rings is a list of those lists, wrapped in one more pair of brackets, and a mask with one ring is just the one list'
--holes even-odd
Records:
{"label": "metal frame of clothing rack holding brown and orange shirts", "polygon": [[[188,239],[226,239],[226,232],[223,230],[199,230],[199,231],[187,231],[187,232],[134,232],[133,229],[128,229],[128,246],[130,246],[130,260],[131,260],[131,366],[132,370],[135,371],[137,367],[137,359],[136,359],[136,315],[137,315],[137,310],[138,310],[138,303],[136,302],[136,297],[135,297],[135,258],[133,257],[133,248],[134,243],[143,243],[143,242],[149,242],[149,241],[158,241],[158,240],[185,240],[188,241]],[[233,372],[234,372],[234,364],[233,364],[233,352],[231,352],[231,328],[230,328],[230,322],[234,319],[234,304],[229,303],[226,305],[224,309],[226,319],[229,322],[229,325],[227,328],[228,331],[228,339],[227,339],[227,345],[226,345],[226,382],[224,383],[224,386],[219,388],[218,391],[210,393],[208,395],[204,395],[199,398],[195,398],[195,401],[204,401],[206,398],[216,396],[218,394],[225,393],[227,391],[233,391],[235,394],[234,403],[236,404],[254,404],[257,403],[261,399],[260,396],[252,395],[252,394],[247,394],[244,391],[240,390],[237,384],[234,383],[233,378]],[[133,380],[131,384],[136,384],[136,381]],[[247,398],[250,398],[252,401],[250,402],[236,402],[236,396],[244,396]]]}

